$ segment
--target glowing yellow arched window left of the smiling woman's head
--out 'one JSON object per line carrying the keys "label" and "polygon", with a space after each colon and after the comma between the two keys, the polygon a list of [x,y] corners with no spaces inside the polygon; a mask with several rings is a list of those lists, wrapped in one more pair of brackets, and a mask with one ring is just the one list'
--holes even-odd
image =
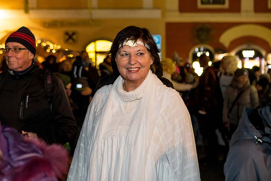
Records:
{"label": "glowing yellow arched window left of the smiling woman's head", "polygon": [[111,44],[111,41],[96,40],[86,47],[86,52],[88,52],[89,58],[92,59],[93,65],[95,65],[97,69],[99,69],[100,63],[102,63],[107,56]]}

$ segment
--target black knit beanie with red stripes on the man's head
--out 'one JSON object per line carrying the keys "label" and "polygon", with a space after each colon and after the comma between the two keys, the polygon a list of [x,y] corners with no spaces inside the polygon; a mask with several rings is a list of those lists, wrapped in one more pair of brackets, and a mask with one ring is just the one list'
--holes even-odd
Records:
{"label": "black knit beanie with red stripes on the man's head", "polygon": [[[17,42],[25,46],[35,56],[36,54],[36,39],[33,33],[26,27],[20,27],[17,31],[11,33],[6,40],[8,42]],[[5,44],[6,44],[5,43]]]}

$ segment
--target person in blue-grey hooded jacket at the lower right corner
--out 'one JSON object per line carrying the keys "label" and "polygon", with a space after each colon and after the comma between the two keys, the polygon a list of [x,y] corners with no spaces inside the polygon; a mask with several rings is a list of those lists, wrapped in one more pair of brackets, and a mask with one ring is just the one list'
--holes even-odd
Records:
{"label": "person in blue-grey hooded jacket at the lower right corner", "polygon": [[224,165],[226,181],[271,179],[271,91],[257,108],[246,108],[232,135]]}

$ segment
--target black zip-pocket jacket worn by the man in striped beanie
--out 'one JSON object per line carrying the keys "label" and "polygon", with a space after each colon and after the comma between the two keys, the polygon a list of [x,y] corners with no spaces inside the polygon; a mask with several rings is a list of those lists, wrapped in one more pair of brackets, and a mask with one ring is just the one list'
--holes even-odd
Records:
{"label": "black zip-pocket jacket worn by the man in striped beanie", "polygon": [[0,74],[0,121],[18,132],[33,132],[47,143],[65,144],[77,125],[63,83],[52,76],[53,96],[45,95],[44,70],[38,65],[21,75]]}

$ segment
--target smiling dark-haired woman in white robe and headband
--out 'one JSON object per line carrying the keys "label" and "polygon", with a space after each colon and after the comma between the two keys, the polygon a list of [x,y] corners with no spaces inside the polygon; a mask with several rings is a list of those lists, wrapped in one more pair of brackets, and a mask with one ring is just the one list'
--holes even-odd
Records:
{"label": "smiling dark-haired woman in white robe and headband", "polygon": [[188,110],[154,75],[159,52],[146,28],[117,34],[110,53],[120,76],[94,95],[68,180],[200,180]]}

